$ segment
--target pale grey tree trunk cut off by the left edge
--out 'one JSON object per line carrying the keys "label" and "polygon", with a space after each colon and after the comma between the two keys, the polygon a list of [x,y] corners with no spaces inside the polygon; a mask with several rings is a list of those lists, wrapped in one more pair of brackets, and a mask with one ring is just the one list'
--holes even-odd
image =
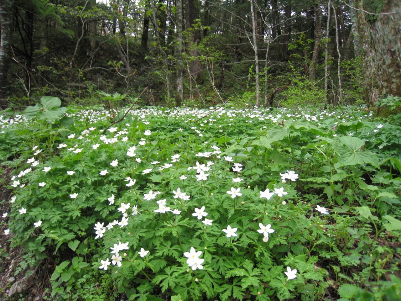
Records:
{"label": "pale grey tree trunk cut off by the left edge", "polygon": [[7,73],[10,53],[10,7],[14,1],[0,0],[0,108],[7,106]]}

